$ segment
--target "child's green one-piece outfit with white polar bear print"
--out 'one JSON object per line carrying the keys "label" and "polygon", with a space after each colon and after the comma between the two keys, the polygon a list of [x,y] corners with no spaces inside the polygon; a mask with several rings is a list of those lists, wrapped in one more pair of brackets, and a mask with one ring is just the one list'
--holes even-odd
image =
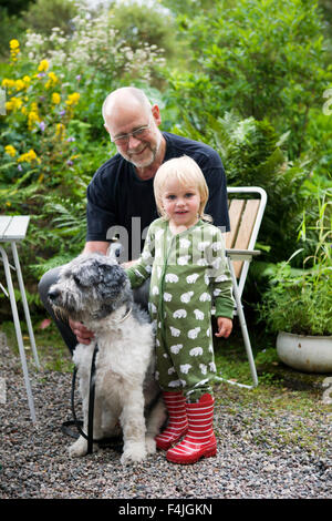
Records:
{"label": "child's green one-piece outfit with white polar bear print", "polygon": [[158,218],[147,232],[132,287],[148,277],[149,313],[156,331],[156,379],[163,390],[184,390],[188,401],[211,392],[216,372],[211,307],[232,318],[232,285],[221,232],[205,221],[177,235]]}

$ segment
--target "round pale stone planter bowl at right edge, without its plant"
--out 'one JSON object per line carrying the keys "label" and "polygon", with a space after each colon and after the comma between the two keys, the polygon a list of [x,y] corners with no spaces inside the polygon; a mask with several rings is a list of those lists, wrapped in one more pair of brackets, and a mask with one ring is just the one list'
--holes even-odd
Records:
{"label": "round pale stone planter bowl at right edge, without its plant", "polygon": [[280,331],[277,353],[281,361],[304,372],[332,372],[332,336],[304,336]]}

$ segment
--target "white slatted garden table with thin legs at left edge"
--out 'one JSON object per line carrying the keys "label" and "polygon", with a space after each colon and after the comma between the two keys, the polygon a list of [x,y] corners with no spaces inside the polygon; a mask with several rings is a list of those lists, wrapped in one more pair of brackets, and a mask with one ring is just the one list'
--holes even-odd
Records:
{"label": "white slatted garden table with thin legs at left edge", "polygon": [[22,364],[22,369],[23,369],[25,389],[27,389],[27,394],[28,394],[28,402],[29,402],[29,408],[30,408],[30,415],[31,415],[31,419],[32,419],[33,423],[35,423],[37,419],[35,419],[33,396],[32,396],[32,391],[31,391],[31,385],[30,385],[30,379],[29,379],[29,374],[28,374],[28,365],[27,365],[27,358],[25,358],[25,350],[24,350],[24,345],[23,345],[21,325],[20,325],[18,307],[17,307],[17,302],[15,302],[15,295],[14,295],[13,284],[12,284],[12,278],[11,278],[11,273],[10,273],[10,268],[15,269],[15,272],[17,272],[19,287],[20,287],[21,297],[22,297],[23,309],[24,309],[24,315],[25,315],[25,320],[27,320],[27,326],[28,326],[28,330],[29,330],[30,344],[31,344],[31,348],[32,348],[32,351],[33,351],[37,368],[39,369],[40,365],[39,365],[39,359],[38,359],[38,353],[37,353],[34,335],[33,335],[33,329],[32,329],[32,324],[31,324],[31,318],[30,318],[30,313],[29,313],[29,306],[28,306],[27,296],[25,296],[25,289],[24,289],[24,284],[23,284],[21,266],[20,266],[20,262],[19,262],[19,254],[18,254],[18,249],[17,249],[17,243],[19,241],[22,241],[25,237],[29,221],[30,221],[30,217],[28,215],[23,215],[23,216],[1,216],[0,215],[0,244],[1,243],[10,243],[11,251],[12,251],[12,256],[13,256],[13,262],[14,262],[14,268],[13,268],[13,266],[11,266],[9,264],[8,255],[7,255],[6,249],[4,249],[6,245],[4,244],[0,245],[0,253],[1,253],[1,256],[2,256],[2,262],[3,262],[3,267],[4,267],[4,275],[6,275],[6,280],[7,280],[8,293],[7,293],[7,290],[4,289],[4,287],[2,285],[1,285],[1,287],[4,290],[7,296],[9,294],[11,311],[12,311],[12,317],[13,317],[13,321],[14,321],[15,334],[17,334],[17,339],[18,339],[18,345],[19,345],[19,350],[20,350],[20,357],[21,357],[21,364]]}

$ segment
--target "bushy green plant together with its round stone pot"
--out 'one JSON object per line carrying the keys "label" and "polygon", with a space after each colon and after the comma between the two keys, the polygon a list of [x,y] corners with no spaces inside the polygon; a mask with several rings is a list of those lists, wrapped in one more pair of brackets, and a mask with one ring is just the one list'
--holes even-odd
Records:
{"label": "bushy green plant together with its round stone pot", "polygon": [[319,218],[313,226],[302,221],[300,236],[313,246],[302,268],[291,262],[300,248],[276,265],[269,289],[259,306],[260,319],[278,333],[277,353],[290,367],[305,372],[332,372],[332,263],[330,190],[319,198]]}

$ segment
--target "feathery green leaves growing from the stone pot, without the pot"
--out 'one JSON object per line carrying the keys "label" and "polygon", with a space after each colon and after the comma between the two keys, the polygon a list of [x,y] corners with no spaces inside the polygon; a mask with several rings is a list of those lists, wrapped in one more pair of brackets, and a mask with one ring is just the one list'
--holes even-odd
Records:
{"label": "feathery green leaves growing from the stone pot, without the pot", "polygon": [[[331,191],[328,190],[319,198],[319,218],[314,226],[308,229],[303,218],[300,236],[313,246],[312,255],[303,260],[303,268],[294,269],[290,264],[303,248],[277,265],[270,288],[258,306],[260,319],[272,331],[332,335],[331,206]],[[307,237],[307,232],[313,232],[314,238]]]}

